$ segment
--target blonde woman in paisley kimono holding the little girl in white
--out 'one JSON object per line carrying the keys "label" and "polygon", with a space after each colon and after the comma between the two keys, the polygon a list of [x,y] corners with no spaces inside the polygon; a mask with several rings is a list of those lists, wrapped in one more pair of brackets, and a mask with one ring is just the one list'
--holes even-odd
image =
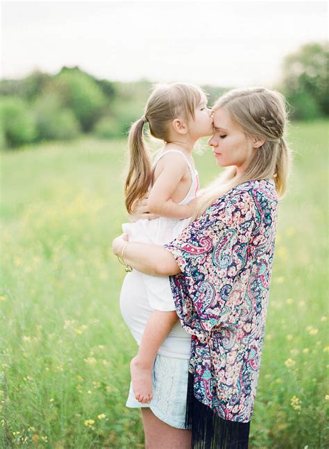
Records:
{"label": "blonde woman in paisley kimono holding the little girl in white", "polygon": [[[286,123],[278,92],[253,88],[221,96],[209,144],[219,167],[227,168],[203,192],[195,220],[163,248],[127,243],[124,235],[113,242],[114,253],[137,271],[171,276],[178,318],[192,335],[186,427],[194,448],[248,447],[277,203],[289,169]],[[150,409],[142,414],[147,447],[189,447],[188,430],[180,430],[175,446],[177,429]]]}

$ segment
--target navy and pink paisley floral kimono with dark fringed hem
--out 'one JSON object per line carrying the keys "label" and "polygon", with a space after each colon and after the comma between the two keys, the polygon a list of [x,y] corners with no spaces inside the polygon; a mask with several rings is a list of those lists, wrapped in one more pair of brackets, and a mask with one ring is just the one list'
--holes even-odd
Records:
{"label": "navy and pink paisley floral kimono with dark fringed hem", "polygon": [[238,185],[165,248],[178,317],[192,334],[186,425],[194,448],[247,448],[267,316],[278,197]]}

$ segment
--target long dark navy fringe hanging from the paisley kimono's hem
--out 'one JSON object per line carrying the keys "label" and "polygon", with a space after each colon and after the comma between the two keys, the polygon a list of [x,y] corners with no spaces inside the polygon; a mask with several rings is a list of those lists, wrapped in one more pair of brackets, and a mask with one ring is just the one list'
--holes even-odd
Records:
{"label": "long dark navy fringe hanging from the paisley kimono's hem", "polygon": [[189,373],[185,427],[192,430],[191,449],[247,449],[250,422],[226,421],[194,397]]}

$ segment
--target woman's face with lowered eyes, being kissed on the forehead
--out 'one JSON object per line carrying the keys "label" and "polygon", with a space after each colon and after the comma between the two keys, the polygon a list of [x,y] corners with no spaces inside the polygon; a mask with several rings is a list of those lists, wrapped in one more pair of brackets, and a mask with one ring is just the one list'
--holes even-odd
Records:
{"label": "woman's face with lowered eyes, being kissed on the forehead", "polygon": [[246,137],[224,108],[215,110],[213,117],[213,135],[208,144],[212,146],[216,163],[219,167],[235,165],[237,172],[241,173],[253,158],[255,148],[252,140]]}

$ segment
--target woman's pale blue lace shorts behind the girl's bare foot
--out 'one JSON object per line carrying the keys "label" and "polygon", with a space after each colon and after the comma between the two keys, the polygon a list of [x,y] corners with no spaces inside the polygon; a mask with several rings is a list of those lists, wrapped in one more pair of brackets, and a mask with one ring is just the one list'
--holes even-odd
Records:
{"label": "woman's pale blue lace shorts behind the girl's bare foot", "polygon": [[133,387],[130,389],[126,407],[150,407],[164,423],[185,429],[187,377],[189,360],[157,355],[153,365],[153,399],[149,404],[141,404],[135,399]]}

